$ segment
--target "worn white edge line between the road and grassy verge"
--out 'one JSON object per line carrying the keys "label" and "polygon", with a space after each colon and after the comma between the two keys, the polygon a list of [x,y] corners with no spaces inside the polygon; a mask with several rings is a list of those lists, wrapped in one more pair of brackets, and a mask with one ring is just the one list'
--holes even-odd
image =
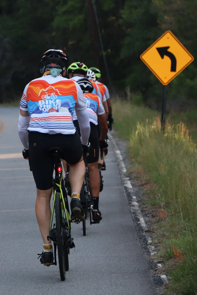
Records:
{"label": "worn white edge line between the road and grassy verge", "polygon": [[[143,215],[141,213],[141,210],[139,208],[139,204],[137,202],[136,196],[134,196],[134,191],[133,191],[131,181],[129,180],[128,177],[125,176],[126,167],[125,167],[125,164],[124,164],[124,161],[123,161],[123,157],[122,157],[121,152],[120,152],[120,150],[118,148],[118,145],[116,144],[115,140],[113,139],[113,136],[109,132],[108,132],[108,137],[109,137],[110,142],[112,142],[112,144],[113,144],[113,150],[114,150],[116,158],[117,158],[118,169],[119,169],[119,173],[121,175],[121,179],[122,179],[122,182],[123,182],[123,187],[124,187],[124,189],[126,188],[126,190],[132,196],[132,201],[128,202],[129,207],[130,207],[130,211],[132,213],[136,213],[137,217],[139,218],[138,223],[141,225],[141,227],[144,230],[144,235],[146,236],[147,242],[149,244],[148,245],[149,251],[150,251],[151,255],[154,255],[154,254],[156,254],[155,248],[154,248],[153,245],[150,245],[152,243],[152,240],[145,233],[148,230],[148,228],[147,228],[146,222],[144,220],[144,217],[143,217]],[[160,277],[161,277],[161,279],[162,279],[162,281],[164,283],[166,283],[168,281],[166,275],[160,275]]]}

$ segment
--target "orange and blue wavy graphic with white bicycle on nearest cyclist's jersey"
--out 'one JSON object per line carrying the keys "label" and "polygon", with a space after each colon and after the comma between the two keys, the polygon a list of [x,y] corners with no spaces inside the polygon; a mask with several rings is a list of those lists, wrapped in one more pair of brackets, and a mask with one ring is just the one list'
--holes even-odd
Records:
{"label": "orange and blue wavy graphic with white bicycle on nearest cyclist's jersey", "polygon": [[51,108],[59,112],[59,107],[67,108],[73,114],[76,98],[76,86],[70,80],[57,81],[53,85],[49,85],[45,80],[34,80],[27,88],[27,105],[30,114],[48,113]]}

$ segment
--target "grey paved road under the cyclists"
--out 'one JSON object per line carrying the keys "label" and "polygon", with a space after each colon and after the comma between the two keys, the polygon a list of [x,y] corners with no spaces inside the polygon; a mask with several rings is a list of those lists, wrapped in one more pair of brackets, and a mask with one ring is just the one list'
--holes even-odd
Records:
{"label": "grey paved road under the cyclists", "polygon": [[[36,189],[28,162],[18,153],[19,110],[1,108],[0,134],[0,294],[154,295],[156,288],[136,233],[110,148],[100,196],[102,222],[74,224],[70,269],[61,282],[58,266],[42,266],[42,240],[35,218]],[[44,167],[43,167],[44,173]]]}

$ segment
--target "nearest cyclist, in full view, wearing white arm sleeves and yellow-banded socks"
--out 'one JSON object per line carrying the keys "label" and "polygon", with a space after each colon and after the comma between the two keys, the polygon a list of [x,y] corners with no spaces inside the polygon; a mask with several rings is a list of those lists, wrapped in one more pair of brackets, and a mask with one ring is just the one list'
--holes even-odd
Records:
{"label": "nearest cyclist, in full view, wearing white arm sleeves and yellow-banded socks", "polygon": [[[75,81],[63,78],[68,58],[61,50],[51,49],[42,59],[43,76],[25,87],[19,115],[19,137],[23,157],[30,159],[37,187],[36,218],[43,238],[42,264],[53,264],[53,247],[47,240],[51,222],[50,199],[53,190],[54,160],[49,149],[57,148],[70,165],[71,219],[84,219],[79,194],[85,175],[83,150],[88,152],[89,117],[83,92]],[[81,140],[73,124],[76,112]],[[83,147],[83,150],[82,150]]]}

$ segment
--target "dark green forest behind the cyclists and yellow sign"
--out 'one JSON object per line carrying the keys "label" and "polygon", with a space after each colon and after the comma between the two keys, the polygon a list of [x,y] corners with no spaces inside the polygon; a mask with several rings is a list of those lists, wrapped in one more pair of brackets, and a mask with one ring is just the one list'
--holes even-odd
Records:
{"label": "dark green forest behind the cyclists and yellow sign", "polygon": [[[70,63],[82,61],[102,71],[108,85],[93,0],[1,0],[0,102],[19,99],[25,85],[40,76],[40,58],[62,49]],[[168,107],[197,107],[197,1],[96,0],[104,54],[120,97],[159,108],[163,86],[140,60],[166,30],[194,56],[194,62],[168,85]]]}

